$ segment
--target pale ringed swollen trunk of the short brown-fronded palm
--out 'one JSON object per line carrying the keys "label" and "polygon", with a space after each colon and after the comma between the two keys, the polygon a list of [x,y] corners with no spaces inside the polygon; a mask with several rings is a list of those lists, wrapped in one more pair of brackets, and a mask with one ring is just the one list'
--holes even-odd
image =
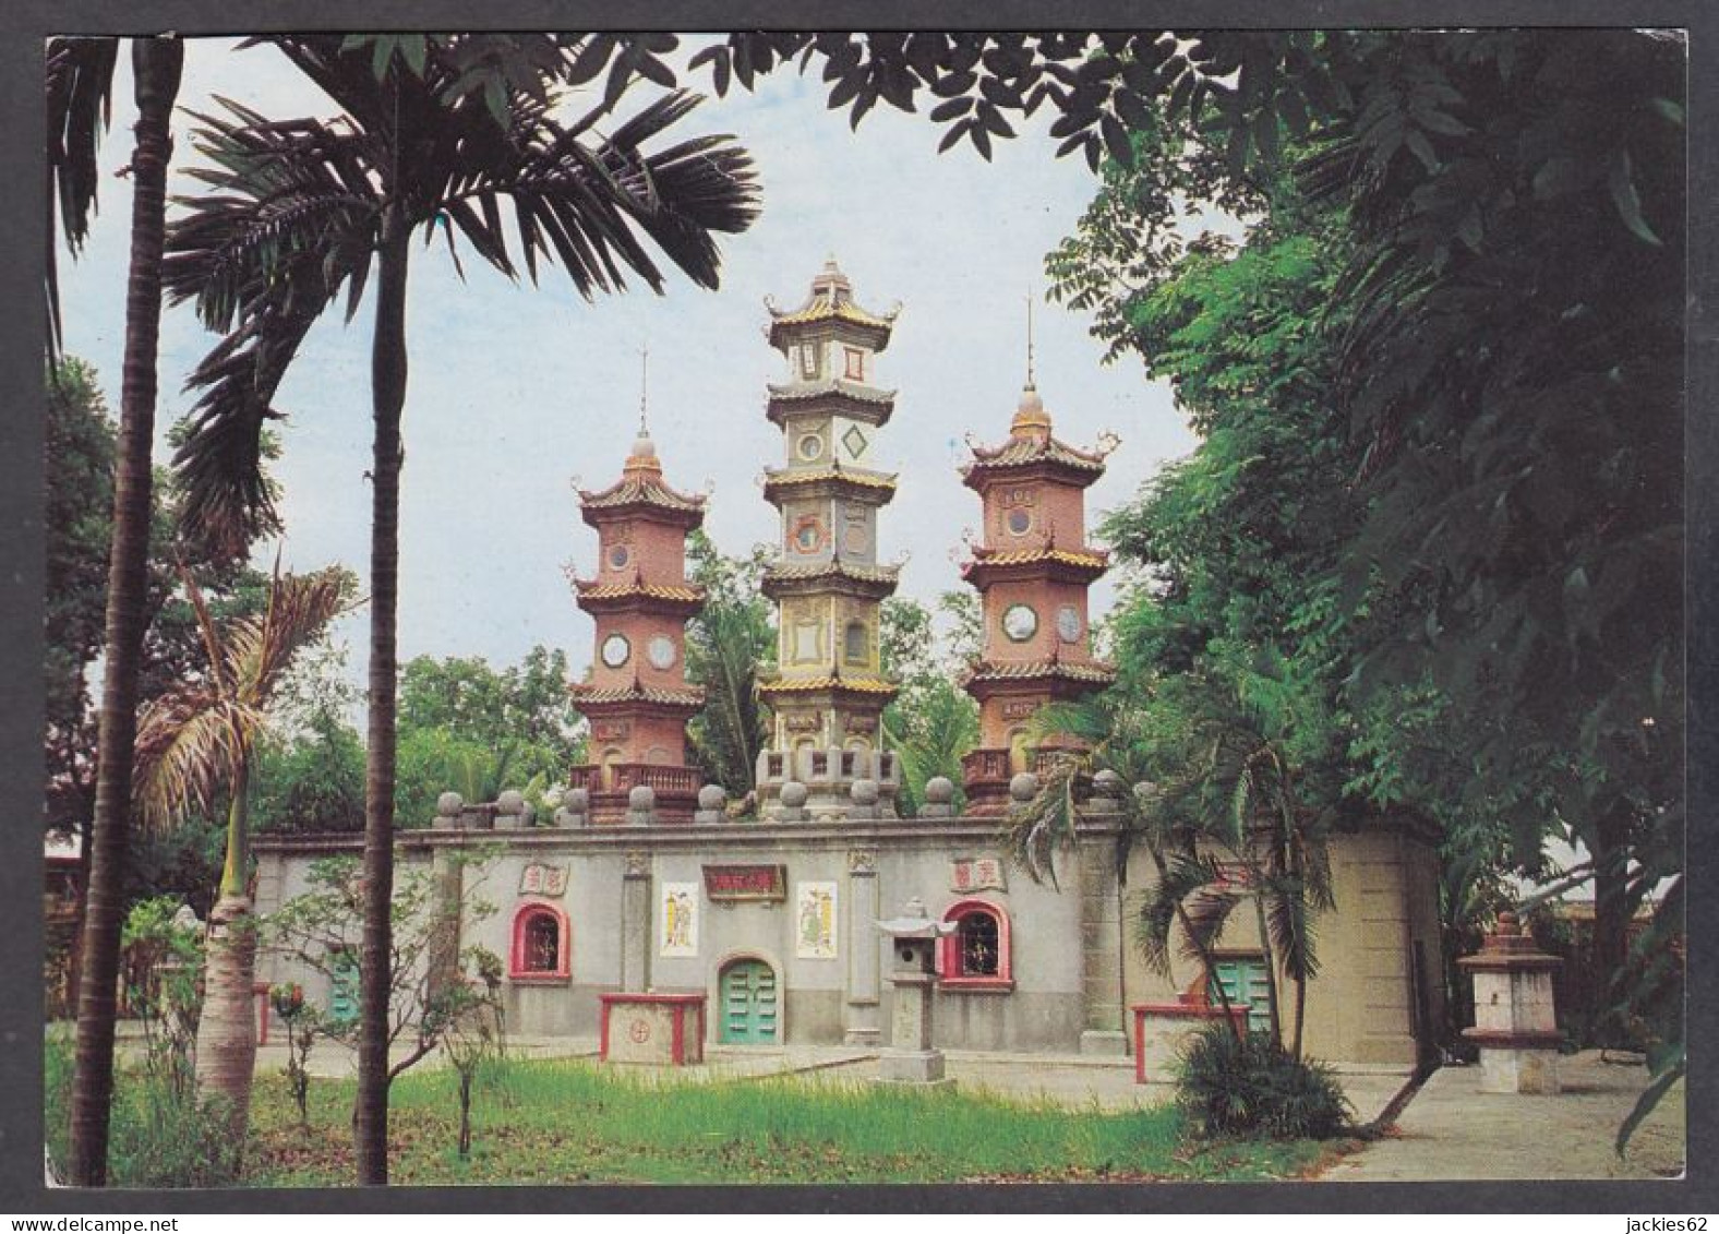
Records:
{"label": "pale ringed swollen trunk of the short brown-fronded palm", "polygon": [[251,775],[241,763],[227,809],[227,866],[220,897],[210,911],[203,961],[203,1017],[198,1021],[198,1098],[217,1103],[227,1122],[227,1143],[244,1153],[251,1121],[251,1076],[256,1071],[256,921],[246,894],[249,873]]}

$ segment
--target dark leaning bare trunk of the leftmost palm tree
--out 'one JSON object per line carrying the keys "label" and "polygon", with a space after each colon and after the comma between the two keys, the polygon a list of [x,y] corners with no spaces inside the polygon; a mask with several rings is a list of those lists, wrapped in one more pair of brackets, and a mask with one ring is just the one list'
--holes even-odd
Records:
{"label": "dark leaning bare trunk of the leftmost palm tree", "polygon": [[131,761],[138,737],[150,560],[150,454],[155,445],[155,356],[162,328],[162,242],[167,225],[168,117],[179,96],[184,45],[132,41],[138,144],[131,156],[131,272],[125,285],[125,364],[119,455],[113,464],[113,541],[108,555],[96,809],[89,835],[83,973],[77,985],[77,1062],[72,1081],[74,1186],[107,1184],[113,1103],[113,987],[119,981],[120,890],[131,825]]}

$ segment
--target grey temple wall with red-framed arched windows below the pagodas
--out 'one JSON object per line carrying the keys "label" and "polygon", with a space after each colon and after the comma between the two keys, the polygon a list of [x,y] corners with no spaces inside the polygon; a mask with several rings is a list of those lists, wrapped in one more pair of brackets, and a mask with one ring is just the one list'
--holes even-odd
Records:
{"label": "grey temple wall with red-framed arched windows below the pagodas", "polygon": [[[995,837],[995,820],[409,832],[401,870],[426,868],[437,851],[497,847],[499,856],[464,875],[468,892],[497,911],[468,919],[461,944],[481,944],[504,959],[516,944],[516,918],[541,907],[566,916],[566,976],[507,981],[509,1031],[526,1036],[595,1043],[598,993],[627,988],[705,993],[707,1038],[720,1043],[724,969],[762,962],[777,990],[777,1043],[887,1043],[890,962],[872,923],[896,916],[909,897],[932,918],[982,902],[1007,925],[1009,983],[939,988],[937,1040],[945,1048],[1074,1054],[1102,1043],[1119,1050],[1129,1004],[1169,1002],[1198,985],[1191,961],[1178,957],[1176,981],[1165,981],[1147,971],[1133,945],[1131,914],[1155,878],[1147,854],[1133,854],[1119,897],[1109,856],[1114,837],[1102,825],[1090,828],[1080,852],[1059,856],[1061,889],[1011,868]],[[356,856],[359,842],[261,840],[260,911],[268,914],[303,892],[309,863],[335,847]],[[780,882],[768,897],[724,902],[712,899],[715,868],[780,868]],[[982,871],[976,883],[973,870]],[[545,871],[554,871],[547,883]],[[1432,854],[1394,834],[1332,840],[1337,911],[1318,923],[1322,973],[1308,990],[1308,1054],[1410,1064],[1415,1019],[1442,1023],[1434,875]],[[803,892],[832,894],[827,938],[808,925]],[[676,895],[693,906],[694,930],[667,945],[667,901]],[[1415,944],[1425,968],[1425,1009],[1416,1007],[1410,981]],[[1226,956],[1257,950],[1246,906],[1219,949]],[[296,973],[280,956],[265,952],[260,976],[303,980],[308,997],[327,1005],[327,980]],[[1291,1004],[1286,988],[1286,1016]]]}

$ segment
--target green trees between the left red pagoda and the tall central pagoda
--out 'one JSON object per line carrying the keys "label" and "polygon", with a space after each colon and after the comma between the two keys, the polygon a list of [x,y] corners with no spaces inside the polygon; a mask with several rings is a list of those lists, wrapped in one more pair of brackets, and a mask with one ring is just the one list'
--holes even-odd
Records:
{"label": "green trees between the left red pagoda and the tall central pagoda", "polygon": [[703,610],[686,624],[686,677],[705,687],[705,710],[686,736],[705,779],[744,797],[770,741],[758,698],[758,669],[775,663],[775,608],[758,593],[770,555],[760,545],[748,559],[724,557],[703,531],[688,538],[686,555],[705,590]]}

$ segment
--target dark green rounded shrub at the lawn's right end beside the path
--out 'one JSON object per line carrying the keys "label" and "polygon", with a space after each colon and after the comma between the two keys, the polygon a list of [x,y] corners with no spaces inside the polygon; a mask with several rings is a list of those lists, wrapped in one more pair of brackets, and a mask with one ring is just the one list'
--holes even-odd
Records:
{"label": "dark green rounded shrub at the lawn's right end beside the path", "polygon": [[1348,1127],[1349,1102],[1331,1067],[1293,1057],[1269,1033],[1227,1024],[1183,1052],[1176,1103],[1202,1136],[1325,1139]]}

